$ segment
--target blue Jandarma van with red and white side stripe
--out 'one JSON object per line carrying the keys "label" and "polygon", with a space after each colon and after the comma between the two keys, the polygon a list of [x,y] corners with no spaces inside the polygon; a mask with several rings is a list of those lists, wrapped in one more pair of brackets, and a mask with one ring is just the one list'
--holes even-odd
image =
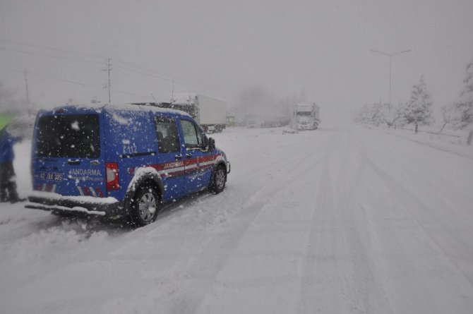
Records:
{"label": "blue Jandarma van with red and white side stripe", "polygon": [[66,106],[37,114],[28,208],[131,217],[143,226],[162,203],[220,193],[230,164],[183,111],[144,105]]}

